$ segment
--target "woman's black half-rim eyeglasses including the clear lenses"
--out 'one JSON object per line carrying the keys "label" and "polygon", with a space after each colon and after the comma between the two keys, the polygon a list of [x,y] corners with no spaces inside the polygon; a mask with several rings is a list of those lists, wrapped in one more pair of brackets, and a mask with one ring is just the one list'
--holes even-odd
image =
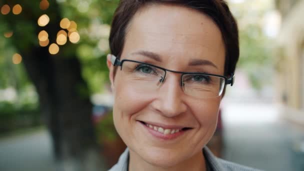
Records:
{"label": "woman's black half-rim eyeglasses including the clear lenses", "polygon": [[225,84],[232,86],[234,83],[234,74],[226,77],[201,72],[180,72],[135,60],[120,61],[114,55],[111,55],[110,60],[114,66],[120,66],[126,83],[140,93],[155,92],[164,82],[166,71],[181,73],[180,86],[183,92],[197,98],[218,97]]}

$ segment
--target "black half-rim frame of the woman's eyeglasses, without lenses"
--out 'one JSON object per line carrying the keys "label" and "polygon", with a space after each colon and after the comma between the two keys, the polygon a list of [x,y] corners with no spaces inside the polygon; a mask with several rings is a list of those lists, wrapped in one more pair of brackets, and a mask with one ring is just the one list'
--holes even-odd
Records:
{"label": "black half-rim frame of the woman's eyeglasses, without lenses", "polygon": [[[164,75],[163,75],[163,78],[161,78],[159,80],[160,82],[164,81],[165,76],[166,76],[166,71],[169,71],[169,72],[173,72],[173,73],[181,73],[181,75],[180,75],[181,77],[184,74],[202,74],[202,75],[217,76],[217,77],[224,78],[225,84],[230,84],[231,86],[234,84],[234,73],[231,73],[231,76],[227,77],[227,76],[217,75],[217,74],[212,74],[212,73],[175,71],[175,70],[166,69],[166,68],[163,68],[163,67],[160,67],[160,66],[156,66],[156,65],[153,65],[153,64],[150,64],[150,63],[140,62],[140,61],[136,61],[136,60],[122,59],[120,61],[116,56],[114,56],[112,54],[111,54],[110,60],[111,60],[111,63],[112,63],[113,66],[120,66],[120,70],[122,69],[122,64],[123,64],[124,61],[132,61],[132,62],[137,62],[137,63],[141,63],[141,64],[146,64],[146,65],[150,65],[150,66],[159,68],[161,70],[164,70]],[[182,80],[180,80],[180,81],[182,81]],[[181,82],[181,84],[182,84],[182,82]]]}

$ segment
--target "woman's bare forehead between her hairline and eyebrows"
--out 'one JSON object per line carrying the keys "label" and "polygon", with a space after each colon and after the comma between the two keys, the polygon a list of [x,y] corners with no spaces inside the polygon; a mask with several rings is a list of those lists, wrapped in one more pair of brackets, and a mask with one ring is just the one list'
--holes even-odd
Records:
{"label": "woman's bare forehead between her hairline and eyebrows", "polygon": [[130,21],[124,44],[122,57],[146,50],[159,54],[168,64],[204,59],[223,70],[225,52],[219,28],[207,15],[187,7],[142,7]]}

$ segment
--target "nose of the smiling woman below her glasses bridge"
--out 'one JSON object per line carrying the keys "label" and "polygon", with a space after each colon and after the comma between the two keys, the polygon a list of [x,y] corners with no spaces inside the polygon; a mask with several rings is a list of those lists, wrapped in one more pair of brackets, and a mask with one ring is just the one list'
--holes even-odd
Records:
{"label": "nose of the smiling woman below her glasses bridge", "polygon": [[183,90],[179,83],[180,76],[174,74],[167,75],[161,83],[153,105],[159,113],[166,117],[177,116],[187,109],[183,99]]}

